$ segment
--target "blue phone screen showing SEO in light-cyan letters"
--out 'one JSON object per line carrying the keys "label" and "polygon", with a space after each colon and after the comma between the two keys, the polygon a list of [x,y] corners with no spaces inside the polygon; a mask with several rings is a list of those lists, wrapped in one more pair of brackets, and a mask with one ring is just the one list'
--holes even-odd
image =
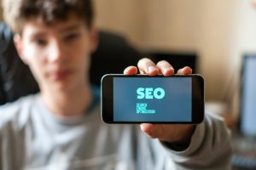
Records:
{"label": "blue phone screen showing SEO in light-cyan letters", "polygon": [[114,77],[113,121],[191,122],[191,77]]}

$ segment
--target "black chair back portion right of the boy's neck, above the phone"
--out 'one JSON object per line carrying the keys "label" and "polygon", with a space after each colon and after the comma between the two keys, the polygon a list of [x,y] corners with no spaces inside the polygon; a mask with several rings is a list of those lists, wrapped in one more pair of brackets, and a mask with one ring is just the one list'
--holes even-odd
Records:
{"label": "black chair back portion right of the boy's neck, above the phone", "polygon": [[100,31],[96,52],[91,55],[90,82],[100,85],[101,78],[107,73],[122,74],[129,65],[137,65],[143,54],[132,47],[125,37]]}

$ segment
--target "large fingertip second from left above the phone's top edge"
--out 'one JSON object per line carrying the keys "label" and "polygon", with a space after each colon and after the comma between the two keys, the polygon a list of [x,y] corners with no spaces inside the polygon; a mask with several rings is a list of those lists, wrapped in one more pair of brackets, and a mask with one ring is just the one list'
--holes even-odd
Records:
{"label": "large fingertip second from left above the phone's top edge", "polygon": [[148,76],[155,76],[159,73],[158,67],[148,58],[140,59],[137,63],[137,67],[141,74],[147,74]]}

